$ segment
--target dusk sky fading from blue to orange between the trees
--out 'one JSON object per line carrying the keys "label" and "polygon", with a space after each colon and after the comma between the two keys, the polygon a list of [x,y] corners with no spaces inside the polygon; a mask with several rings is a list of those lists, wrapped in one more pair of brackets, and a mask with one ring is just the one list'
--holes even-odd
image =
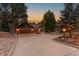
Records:
{"label": "dusk sky fading from blue to orange between the trees", "polygon": [[48,10],[55,14],[56,20],[59,19],[60,11],[63,10],[63,3],[26,3],[28,21],[38,23],[43,19],[43,15]]}

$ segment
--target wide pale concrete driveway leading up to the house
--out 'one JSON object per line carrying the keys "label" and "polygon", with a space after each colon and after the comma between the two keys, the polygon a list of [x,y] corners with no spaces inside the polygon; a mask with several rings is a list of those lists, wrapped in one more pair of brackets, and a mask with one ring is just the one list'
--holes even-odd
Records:
{"label": "wide pale concrete driveway leading up to the house", "polygon": [[18,35],[13,56],[69,56],[79,55],[79,49],[53,41],[58,34]]}

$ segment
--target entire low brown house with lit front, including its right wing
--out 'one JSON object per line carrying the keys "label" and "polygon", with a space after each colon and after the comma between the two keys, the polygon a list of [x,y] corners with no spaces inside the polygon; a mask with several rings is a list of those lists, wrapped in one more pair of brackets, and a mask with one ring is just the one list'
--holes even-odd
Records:
{"label": "entire low brown house with lit front, including its right wing", "polygon": [[39,27],[36,24],[30,24],[30,23],[23,23],[20,24],[16,28],[16,33],[17,34],[26,34],[26,33],[40,33]]}

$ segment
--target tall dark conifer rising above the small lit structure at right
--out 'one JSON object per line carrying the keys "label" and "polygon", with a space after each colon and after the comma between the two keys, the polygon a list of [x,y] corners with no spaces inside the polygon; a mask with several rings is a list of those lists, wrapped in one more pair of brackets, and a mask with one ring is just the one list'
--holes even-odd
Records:
{"label": "tall dark conifer rising above the small lit structure at right", "polygon": [[65,3],[64,4],[64,10],[61,11],[60,19],[62,21],[62,24],[72,24],[73,21],[73,3]]}

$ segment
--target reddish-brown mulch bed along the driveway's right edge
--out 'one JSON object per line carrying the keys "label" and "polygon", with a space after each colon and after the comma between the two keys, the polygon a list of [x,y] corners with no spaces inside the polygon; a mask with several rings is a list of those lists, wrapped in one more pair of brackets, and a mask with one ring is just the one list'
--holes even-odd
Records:
{"label": "reddish-brown mulch bed along the driveway's right edge", "polygon": [[79,49],[79,34],[73,34],[72,38],[64,38],[63,36],[61,36],[53,40]]}

